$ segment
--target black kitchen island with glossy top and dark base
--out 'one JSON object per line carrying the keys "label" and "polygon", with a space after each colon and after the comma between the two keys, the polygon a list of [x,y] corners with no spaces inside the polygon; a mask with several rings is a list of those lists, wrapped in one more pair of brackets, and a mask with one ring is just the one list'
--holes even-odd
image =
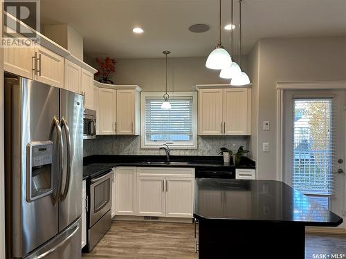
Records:
{"label": "black kitchen island with glossy top and dark base", "polygon": [[194,218],[201,259],[303,259],[305,226],[343,222],[283,182],[203,178],[195,183]]}

